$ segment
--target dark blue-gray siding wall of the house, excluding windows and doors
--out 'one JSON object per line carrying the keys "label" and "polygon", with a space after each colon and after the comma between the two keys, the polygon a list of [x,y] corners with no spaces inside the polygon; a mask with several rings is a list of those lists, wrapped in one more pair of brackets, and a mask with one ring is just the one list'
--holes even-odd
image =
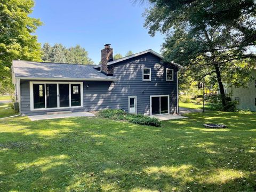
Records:
{"label": "dark blue-gray siding wall of the house, excluding windows and doors", "polygon": [[[118,108],[129,111],[128,97],[137,96],[137,113],[150,114],[150,95],[170,95],[170,113],[177,110],[177,71],[173,65],[163,63],[151,53],[122,61],[114,65],[115,82],[84,81],[84,107],[30,111],[29,81],[21,82],[21,114],[45,114],[46,111],[95,111]],[[142,81],[142,68],[151,68],[151,81]],[[173,81],[165,81],[165,69],[173,68]],[[86,85],[89,85],[86,88]]]}

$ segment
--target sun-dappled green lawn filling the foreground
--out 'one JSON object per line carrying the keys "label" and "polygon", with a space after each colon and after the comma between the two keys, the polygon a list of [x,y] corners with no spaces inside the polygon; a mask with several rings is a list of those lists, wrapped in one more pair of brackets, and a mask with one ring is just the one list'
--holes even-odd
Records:
{"label": "sun-dappled green lawn filling the foreground", "polygon": [[255,191],[256,116],[187,116],[162,127],[99,117],[1,120],[0,189]]}

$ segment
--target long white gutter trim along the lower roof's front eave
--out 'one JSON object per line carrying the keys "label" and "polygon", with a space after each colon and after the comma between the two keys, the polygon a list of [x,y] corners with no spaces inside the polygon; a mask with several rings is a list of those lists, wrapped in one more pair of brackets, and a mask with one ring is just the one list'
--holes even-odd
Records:
{"label": "long white gutter trim along the lower roof's front eave", "polygon": [[[61,70],[61,69],[60,69]],[[26,80],[51,80],[51,81],[117,81],[115,77],[113,78],[49,78],[49,77],[17,77],[17,79],[26,79]]]}

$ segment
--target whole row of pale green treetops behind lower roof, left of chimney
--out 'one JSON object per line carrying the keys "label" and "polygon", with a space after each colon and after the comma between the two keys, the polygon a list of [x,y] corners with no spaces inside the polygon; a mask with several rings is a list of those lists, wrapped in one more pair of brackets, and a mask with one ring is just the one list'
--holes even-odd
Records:
{"label": "whole row of pale green treetops behind lower roof, left of chimney", "polygon": [[42,52],[42,59],[45,62],[93,64],[92,59],[88,57],[88,52],[80,45],[67,49],[61,43],[57,43],[53,47],[49,43],[45,43]]}

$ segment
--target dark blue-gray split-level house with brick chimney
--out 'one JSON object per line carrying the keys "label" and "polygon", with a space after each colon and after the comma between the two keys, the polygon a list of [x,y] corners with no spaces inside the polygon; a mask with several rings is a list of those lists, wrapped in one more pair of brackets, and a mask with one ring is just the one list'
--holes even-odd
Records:
{"label": "dark blue-gray split-level house with brick chimney", "polygon": [[159,115],[178,111],[178,68],[153,50],[113,60],[106,44],[101,65],[13,60],[12,76],[21,115],[107,108]]}

